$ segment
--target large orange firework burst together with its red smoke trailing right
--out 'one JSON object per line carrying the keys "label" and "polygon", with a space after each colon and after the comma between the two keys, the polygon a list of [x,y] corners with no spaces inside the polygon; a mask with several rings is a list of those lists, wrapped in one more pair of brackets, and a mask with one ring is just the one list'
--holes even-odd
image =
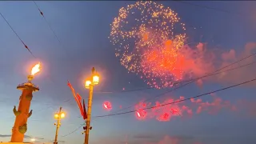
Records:
{"label": "large orange firework burst together with its red smoke trailing right", "polygon": [[[185,45],[185,30],[185,24],[169,7],[150,1],[135,2],[119,10],[118,17],[111,24],[110,41],[115,46],[115,55],[120,58],[122,66],[140,74],[149,86],[158,89],[172,87],[181,79],[210,74],[240,58],[234,50],[215,53],[207,49],[205,43],[192,47]],[[250,54],[254,48],[255,43],[247,44],[241,56]],[[251,71],[243,70],[242,74]],[[222,74],[212,80],[234,81],[235,74],[238,73],[232,76]],[[202,86],[202,79],[197,83]]]}

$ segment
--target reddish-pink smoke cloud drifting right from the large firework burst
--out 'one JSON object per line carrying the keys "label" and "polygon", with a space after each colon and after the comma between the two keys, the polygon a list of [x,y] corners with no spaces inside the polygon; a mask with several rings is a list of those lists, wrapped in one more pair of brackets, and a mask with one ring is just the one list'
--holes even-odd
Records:
{"label": "reddish-pink smoke cloud drifting right from the large firework burst", "polygon": [[[246,58],[255,52],[256,42],[246,43],[242,51],[231,49],[224,52],[220,49],[210,49],[206,43],[199,43],[194,47],[185,46],[185,48],[180,51],[181,55],[184,57],[180,59],[181,62],[178,62],[177,65],[184,71],[186,79],[200,78],[203,75],[210,74],[224,66],[228,66],[233,62],[237,62],[242,58]],[[243,66],[251,62],[256,62],[254,56],[246,58],[218,72],[234,69],[235,67]],[[250,66],[244,66],[236,70],[230,70],[200,79],[197,84],[198,86],[202,86],[202,83],[206,81],[222,84],[236,84],[254,78],[254,71],[256,71],[256,67],[251,64]],[[246,86],[255,86],[255,84],[256,82],[250,82],[250,84]]]}

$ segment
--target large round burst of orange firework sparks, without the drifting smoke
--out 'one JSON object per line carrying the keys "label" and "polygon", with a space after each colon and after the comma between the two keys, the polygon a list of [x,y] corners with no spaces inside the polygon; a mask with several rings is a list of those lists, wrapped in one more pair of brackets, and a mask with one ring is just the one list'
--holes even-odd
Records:
{"label": "large round burst of orange firework sparks, without the drifting smoke", "polygon": [[169,87],[182,78],[178,50],[184,46],[186,29],[177,15],[156,2],[136,2],[122,7],[111,24],[116,57],[150,86]]}

